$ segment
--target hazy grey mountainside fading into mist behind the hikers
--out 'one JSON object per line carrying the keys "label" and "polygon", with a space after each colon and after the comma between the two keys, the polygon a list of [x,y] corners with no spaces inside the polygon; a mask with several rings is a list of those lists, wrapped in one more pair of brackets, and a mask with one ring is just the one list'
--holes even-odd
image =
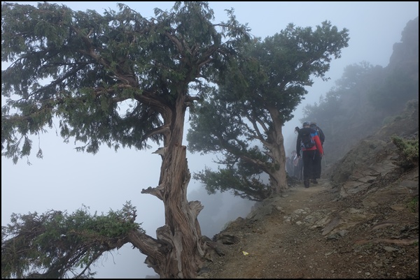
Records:
{"label": "hazy grey mountainside fading into mist behind the hikers", "polygon": [[409,100],[419,98],[419,17],[407,22],[400,42],[384,47],[393,49],[386,67],[366,61],[346,66],[323,100],[305,108],[300,120],[316,121],[323,129],[328,163],[342,159],[399,115]]}

